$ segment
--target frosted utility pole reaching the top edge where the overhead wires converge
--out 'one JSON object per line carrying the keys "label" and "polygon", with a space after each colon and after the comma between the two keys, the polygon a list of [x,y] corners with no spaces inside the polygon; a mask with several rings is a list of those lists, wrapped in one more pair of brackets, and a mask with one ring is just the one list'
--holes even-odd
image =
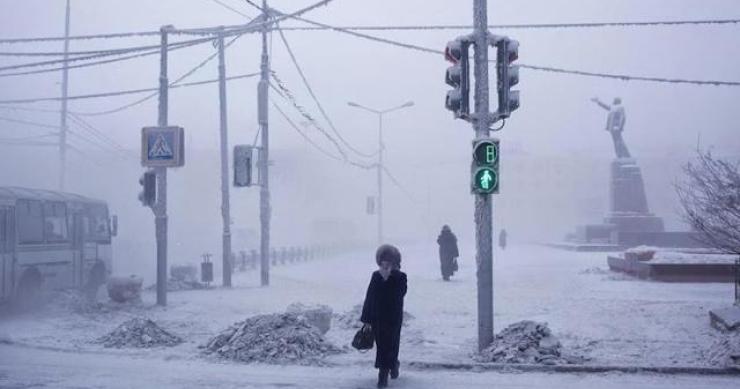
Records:
{"label": "frosted utility pole reaching the top edge where the overhead wires converge", "polygon": [[267,0],[262,0],[262,60],[260,64],[260,81],[257,86],[257,110],[262,147],[259,153],[260,178],[260,281],[262,286],[270,285],[270,180],[269,180],[269,128],[268,128],[268,91],[270,85],[270,61],[267,55],[267,30],[270,20]]}

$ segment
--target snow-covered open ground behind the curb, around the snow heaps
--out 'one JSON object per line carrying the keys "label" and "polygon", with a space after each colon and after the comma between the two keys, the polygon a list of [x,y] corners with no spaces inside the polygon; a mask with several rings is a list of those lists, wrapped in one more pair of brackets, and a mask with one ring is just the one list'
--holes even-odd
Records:
{"label": "snow-covered open ground behind the curb, around the snow heaps", "polygon": [[[414,316],[403,329],[401,359],[470,362],[477,333],[472,249],[462,250],[460,272],[448,283],[439,275],[436,245],[401,251],[409,276],[406,310]],[[609,272],[605,258],[603,253],[540,246],[497,252],[496,331],[519,320],[547,322],[565,351],[583,355],[593,365],[708,366],[709,347],[721,335],[709,326],[707,312],[731,302],[732,285],[635,280]],[[183,366],[213,362],[198,346],[246,317],[284,311],[293,302],[326,304],[335,313],[351,309],[362,301],[374,267],[373,253],[358,252],[276,267],[269,288],[259,287],[258,272],[237,273],[232,289],[170,293],[166,308],[152,305],[152,292],[145,292],[142,305],[106,305],[102,312],[47,308],[0,319],[0,339],[47,351],[104,353],[132,364],[141,358],[182,361]],[[185,342],[143,351],[104,350],[93,343],[132,316],[150,318]],[[327,337],[348,347],[353,332],[338,327]],[[28,347],[5,348],[0,355],[7,361],[8,354],[21,349]],[[329,362],[371,365],[372,353],[349,351]]]}

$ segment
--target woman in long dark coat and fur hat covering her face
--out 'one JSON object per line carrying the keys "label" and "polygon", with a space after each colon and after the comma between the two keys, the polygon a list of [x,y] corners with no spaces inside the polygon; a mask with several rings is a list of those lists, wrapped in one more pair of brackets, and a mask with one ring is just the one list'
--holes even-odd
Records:
{"label": "woman in long dark coat and fur hat covering her face", "polygon": [[403,298],[406,274],[401,271],[401,253],[395,246],[384,244],[375,253],[378,270],[367,287],[360,321],[375,336],[375,367],[378,387],[388,386],[388,374],[398,378],[398,351],[403,324]]}

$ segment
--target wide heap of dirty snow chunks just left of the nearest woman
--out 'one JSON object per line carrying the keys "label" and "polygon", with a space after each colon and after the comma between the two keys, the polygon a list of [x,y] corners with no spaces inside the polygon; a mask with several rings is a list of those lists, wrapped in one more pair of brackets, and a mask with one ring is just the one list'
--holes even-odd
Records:
{"label": "wide heap of dirty snow chunks just left of the nearest woman", "polygon": [[235,323],[205,349],[240,362],[301,365],[322,364],[325,357],[342,352],[305,317],[294,313],[259,315]]}

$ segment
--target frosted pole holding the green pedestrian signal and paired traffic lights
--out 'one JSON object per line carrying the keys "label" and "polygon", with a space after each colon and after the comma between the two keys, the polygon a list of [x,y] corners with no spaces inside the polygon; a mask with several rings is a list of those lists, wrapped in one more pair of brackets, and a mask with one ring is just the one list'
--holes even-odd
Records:
{"label": "frosted pole holding the green pedestrian signal and paired traffic lights", "polygon": [[[488,4],[473,0],[475,32],[475,114],[476,138],[489,136],[488,94]],[[478,278],[478,350],[493,342],[493,206],[490,194],[475,195],[475,241]]]}

